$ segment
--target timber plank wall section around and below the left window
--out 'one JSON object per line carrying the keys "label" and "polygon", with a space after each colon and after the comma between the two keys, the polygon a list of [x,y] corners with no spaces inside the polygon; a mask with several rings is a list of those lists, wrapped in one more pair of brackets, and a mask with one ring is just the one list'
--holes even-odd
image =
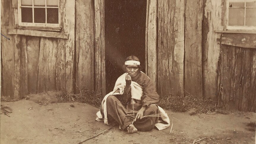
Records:
{"label": "timber plank wall section around and below the left window", "polygon": [[[13,3],[12,3],[13,2]],[[15,1],[2,1],[2,89],[7,100],[49,90],[73,91],[75,1],[62,1],[62,31],[68,39],[8,35],[17,16]]]}

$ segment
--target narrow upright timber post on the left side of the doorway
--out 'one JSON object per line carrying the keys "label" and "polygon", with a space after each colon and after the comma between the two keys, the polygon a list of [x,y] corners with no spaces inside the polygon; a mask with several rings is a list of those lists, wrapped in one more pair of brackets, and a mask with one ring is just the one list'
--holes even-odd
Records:
{"label": "narrow upright timber post on the left side of the doorway", "polygon": [[105,94],[104,0],[94,1],[94,90]]}

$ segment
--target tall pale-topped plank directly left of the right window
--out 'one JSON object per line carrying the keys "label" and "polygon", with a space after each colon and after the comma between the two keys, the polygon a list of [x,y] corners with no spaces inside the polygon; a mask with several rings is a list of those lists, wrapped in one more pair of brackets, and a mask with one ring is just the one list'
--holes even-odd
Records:
{"label": "tall pale-topped plank directly left of the right window", "polygon": [[202,68],[203,95],[216,99],[218,96],[218,60],[220,44],[217,39],[221,34],[215,30],[223,29],[222,13],[223,0],[203,0],[202,23]]}

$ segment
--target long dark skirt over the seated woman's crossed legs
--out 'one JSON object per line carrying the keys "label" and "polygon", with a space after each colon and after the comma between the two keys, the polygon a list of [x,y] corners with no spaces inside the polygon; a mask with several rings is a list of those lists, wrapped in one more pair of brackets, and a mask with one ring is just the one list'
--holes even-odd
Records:
{"label": "long dark skirt over the seated woman's crossed legs", "polygon": [[[141,107],[141,106],[140,106]],[[140,107],[136,110],[132,110],[129,107],[125,107],[116,96],[108,96],[107,98],[107,112],[108,112],[108,122],[109,124],[115,125],[116,123],[121,126],[123,130],[132,124],[134,117],[136,116]],[[134,113],[134,115],[133,115]],[[158,107],[156,104],[151,104],[144,111],[143,116],[158,114]],[[138,131],[150,131],[154,128],[155,123],[158,122],[158,117],[145,117],[142,119],[137,119],[133,122],[135,128]]]}

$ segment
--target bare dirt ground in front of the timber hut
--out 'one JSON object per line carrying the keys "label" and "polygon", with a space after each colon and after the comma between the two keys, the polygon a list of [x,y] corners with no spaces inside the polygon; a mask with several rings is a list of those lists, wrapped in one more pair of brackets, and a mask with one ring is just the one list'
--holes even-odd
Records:
{"label": "bare dirt ground in front of the timber hut", "polygon": [[[52,103],[56,92],[28,95],[30,99],[1,102],[12,108],[10,117],[1,114],[0,143],[78,143],[110,126],[95,121],[99,110],[84,103]],[[72,105],[74,107],[72,107]],[[30,110],[29,110],[30,108]],[[249,122],[255,122],[256,113],[230,112],[222,114],[175,113],[166,110],[173,128],[127,134],[118,126],[87,140],[85,143],[255,143],[255,131],[249,131]],[[171,122],[172,123],[172,122]]]}

